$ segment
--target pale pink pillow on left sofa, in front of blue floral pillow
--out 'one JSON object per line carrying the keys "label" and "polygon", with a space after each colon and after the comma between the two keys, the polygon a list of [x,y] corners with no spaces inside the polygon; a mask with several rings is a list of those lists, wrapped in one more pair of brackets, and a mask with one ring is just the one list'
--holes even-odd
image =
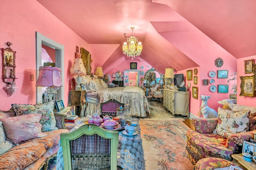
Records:
{"label": "pale pink pillow on left sofa, in front of blue floral pillow", "polygon": [[42,125],[39,123],[41,114],[28,114],[14,117],[0,118],[5,129],[5,134],[14,144],[30,139],[44,137]]}

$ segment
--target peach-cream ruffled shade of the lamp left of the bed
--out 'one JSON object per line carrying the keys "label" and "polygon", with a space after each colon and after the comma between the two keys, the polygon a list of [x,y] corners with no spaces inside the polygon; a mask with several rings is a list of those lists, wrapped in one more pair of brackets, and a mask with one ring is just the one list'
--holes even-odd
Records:
{"label": "peach-cream ruffled shade of the lamp left of the bed", "polygon": [[72,76],[86,76],[86,69],[84,67],[83,59],[74,59],[73,65],[70,68],[70,74]]}

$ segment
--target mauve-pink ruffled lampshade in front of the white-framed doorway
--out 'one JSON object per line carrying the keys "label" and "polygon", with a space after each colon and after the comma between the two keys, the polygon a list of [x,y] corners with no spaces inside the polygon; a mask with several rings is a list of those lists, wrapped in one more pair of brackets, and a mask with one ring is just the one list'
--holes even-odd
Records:
{"label": "mauve-pink ruffled lampshade in front of the white-framed doorway", "polygon": [[36,82],[36,86],[41,87],[60,87],[62,86],[60,78],[61,69],[58,67],[51,66],[40,66],[39,76]]}

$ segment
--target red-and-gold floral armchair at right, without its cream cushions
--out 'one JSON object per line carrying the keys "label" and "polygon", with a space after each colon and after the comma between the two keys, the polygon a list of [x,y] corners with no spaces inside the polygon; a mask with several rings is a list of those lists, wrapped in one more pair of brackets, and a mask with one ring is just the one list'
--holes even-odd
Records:
{"label": "red-and-gold floral armchair at right, without its cream cushions", "polygon": [[192,119],[195,129],[187,131],[186,146],[187,155],[191,162],[196,164],[198,160],[207,157],[232,160],[232,154],[241,153],[243,141],[249,141],[251,138],[254,138],[253,132],[256,132],[256,112],[248,113],[248,131],[235,133],[228,137],[214,133],[217,124],[220,123],[220,115],[214,119]]}

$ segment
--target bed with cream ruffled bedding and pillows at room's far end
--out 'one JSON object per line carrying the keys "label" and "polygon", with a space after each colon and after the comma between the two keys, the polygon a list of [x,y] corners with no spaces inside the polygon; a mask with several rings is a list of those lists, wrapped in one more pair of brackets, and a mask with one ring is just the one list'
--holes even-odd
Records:
{"label": "bed with cream ruffled bedding and pillows at room's far end", "polygon": [[150,114],[145,92],[138,86],[108,88],[108,85],[98,78],[84,78],[86,87],[86,110],[81,117],[100,113],[100,103],[115,99],[120,103],[130,103],[132,116],[147,117]]}

